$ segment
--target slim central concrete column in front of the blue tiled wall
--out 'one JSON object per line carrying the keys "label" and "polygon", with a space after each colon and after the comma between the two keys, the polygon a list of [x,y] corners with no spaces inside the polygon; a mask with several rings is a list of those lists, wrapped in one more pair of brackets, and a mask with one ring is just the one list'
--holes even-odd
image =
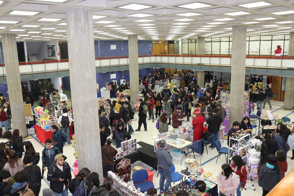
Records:
{"label": "slim central concrete column in front of the blue tiled wall", "polygon": [[139,93],[138,36],[128,36],[131,103],[137,103]]}

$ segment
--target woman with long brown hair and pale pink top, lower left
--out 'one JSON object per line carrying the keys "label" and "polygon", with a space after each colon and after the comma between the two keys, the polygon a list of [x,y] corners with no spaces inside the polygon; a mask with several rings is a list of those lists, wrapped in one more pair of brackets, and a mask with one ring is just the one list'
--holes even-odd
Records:
{"label": "woman with long brown hair and pale pink top, lower left", "polygon": [[19,158],[14,150],[11,150],[9,153],[8,162],[4,165],[4,169],[10,172],[12,176],[23,170],[26,167],[22,162],[22,158]]}

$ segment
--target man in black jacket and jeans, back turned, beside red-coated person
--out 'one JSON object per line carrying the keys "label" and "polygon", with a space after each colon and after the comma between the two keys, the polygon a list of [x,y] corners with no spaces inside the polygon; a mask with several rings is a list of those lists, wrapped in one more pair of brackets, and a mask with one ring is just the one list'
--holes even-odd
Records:
{"label": "man in black jacket and jeans, back turned, beside red-coated person", "polygon": [[216,147],[216,140],[218,140],[218,132],[220,130],[220,123],[221,123],[221,115],[217,114],[216,110],[212,110],[212,115],[206,120],[208,124],[208,132],[214,137],[211,140],[210,148],[214,149]]}

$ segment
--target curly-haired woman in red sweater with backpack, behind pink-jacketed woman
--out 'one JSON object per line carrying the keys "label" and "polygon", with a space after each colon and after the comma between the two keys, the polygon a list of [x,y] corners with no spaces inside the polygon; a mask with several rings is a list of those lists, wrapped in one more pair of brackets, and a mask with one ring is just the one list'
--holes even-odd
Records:
{"label": "curly-haired woman in red sweater with backpack, behind pink-jacketed woman", "polygon": [[232,167],[235,168],[236,175],[240,177],[240,182],[237,188],[237,196],[241,196],[241,191],[244,189],[246,181],[249,178],[249,170],[240,155],[232,157]]}

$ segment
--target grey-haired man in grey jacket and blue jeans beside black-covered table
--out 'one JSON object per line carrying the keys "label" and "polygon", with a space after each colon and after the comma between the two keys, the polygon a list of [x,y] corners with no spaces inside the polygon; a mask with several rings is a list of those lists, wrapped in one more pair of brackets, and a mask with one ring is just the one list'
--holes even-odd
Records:
{"label": "grey-haired man in grey jacket and blue jeans beside black-covered table", "polygon": [[[159,142],[159,147],[156,150],[156,157],[158,160],[158,171],[160,173],[159,193],[162,194],[169,189],[171,184],[171,167],[173,167],[172,157],[166,149],[166,140],[161,140]],[[166,180],[165,184],[164,180]]]}

